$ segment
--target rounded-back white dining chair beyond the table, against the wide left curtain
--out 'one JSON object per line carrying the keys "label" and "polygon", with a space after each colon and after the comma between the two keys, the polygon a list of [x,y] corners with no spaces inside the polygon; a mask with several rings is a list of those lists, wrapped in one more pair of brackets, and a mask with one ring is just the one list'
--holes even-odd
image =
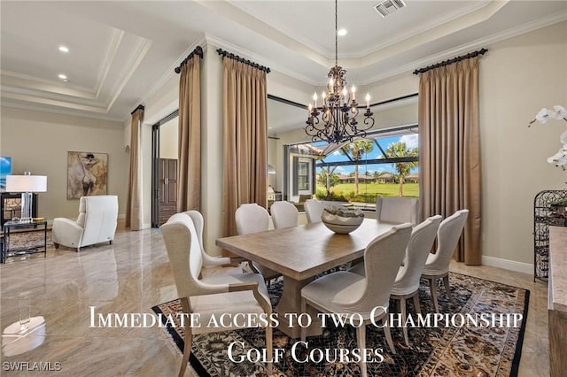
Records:
{"label": "rounded-back white dining chair beyond the table, against the wide left curtain", "polygon": [[[258,204],[241,204],[238,207],[237,212],[235,212],[235,217],[237,220],[237,232],[238,235],[248,235],[250,233],[258,233],[269,228],[269,213],[264,208]],[[269,245],[267,245],[269,247]],[[252,263],[248,261],[248,265],[252,268],[252,271],[261,273],[266,281],[270,281],[281,273],[278,273],[265,265],[260,265],[258,263]]]}

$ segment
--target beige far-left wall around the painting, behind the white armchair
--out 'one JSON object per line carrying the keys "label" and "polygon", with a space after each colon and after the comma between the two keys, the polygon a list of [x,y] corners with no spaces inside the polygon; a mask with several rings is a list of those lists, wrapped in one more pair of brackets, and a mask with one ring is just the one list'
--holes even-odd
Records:
{"label": "beige far-left wall around the painting, behind the white armchair", "polygon": [[12,157],[12,173],[47,175],[47,192],[39,194],[38,216],[76,219],[79,201],[67,200],[67,151],[108,153],[108,194],[118,195],[125,213],[128,151],[120,122],[2,107],[0,154]]}

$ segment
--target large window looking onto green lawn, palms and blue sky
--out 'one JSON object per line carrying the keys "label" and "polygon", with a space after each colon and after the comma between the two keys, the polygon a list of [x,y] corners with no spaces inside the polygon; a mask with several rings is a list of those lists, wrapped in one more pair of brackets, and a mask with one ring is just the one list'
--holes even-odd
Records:
{"label": "large window looking onto green lawn, palms and blue sky", "polygon": [[312,144],[316,196],[372,207],[377,196],[419,196],[417,125],[376,131],[343,145]]}

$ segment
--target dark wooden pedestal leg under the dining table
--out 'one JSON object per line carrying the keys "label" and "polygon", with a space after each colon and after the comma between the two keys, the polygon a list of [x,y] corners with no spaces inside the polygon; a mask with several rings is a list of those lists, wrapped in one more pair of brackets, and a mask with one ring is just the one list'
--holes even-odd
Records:
{"label": "dark wooden pedestal leg under the dining table", "polygon": [[[291,338],[299,338],[301,336],[301,327],[297,323],[297,317],[294,315],[291,319],[290,314],[301,313],[301,289],[313,280],[314,278],[296,281],[290,277],[283,276],[282,297],[276,306],[277,318],[280,322],[280,326],[277,328]],[[321,321],[317,318],[317,311],[312,307],[308,307],[307,313],[312,319],[311,326],[307,327],[307,336],[321,335]]]}

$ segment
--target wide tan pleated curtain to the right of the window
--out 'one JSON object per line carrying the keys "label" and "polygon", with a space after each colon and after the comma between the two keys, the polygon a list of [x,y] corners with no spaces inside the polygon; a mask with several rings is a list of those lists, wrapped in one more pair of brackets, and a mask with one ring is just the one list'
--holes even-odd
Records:
{"label": "wide tan pleated curtain to the right of the window", "polygon": [[421,73],[418,107],[423,217],[468,209],[455,258],[480,265],[478,57]]}

